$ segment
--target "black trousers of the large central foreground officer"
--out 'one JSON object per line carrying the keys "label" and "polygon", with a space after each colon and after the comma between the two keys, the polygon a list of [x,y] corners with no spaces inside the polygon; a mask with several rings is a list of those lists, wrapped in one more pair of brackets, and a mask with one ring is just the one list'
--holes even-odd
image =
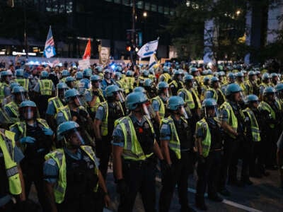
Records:
{"label": "black trousers of the large central foreground officer", "polygon": [[156,211],[155,169],[153,161],[123,161],[122,172],[129,193],[120,195],[119,212],[132,212],[138,192],[141,194],[144,210]]}

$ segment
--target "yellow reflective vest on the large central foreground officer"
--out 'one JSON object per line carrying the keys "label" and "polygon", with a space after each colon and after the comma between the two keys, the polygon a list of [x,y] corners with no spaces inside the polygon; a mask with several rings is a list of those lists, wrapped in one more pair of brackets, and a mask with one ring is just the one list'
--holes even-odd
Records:
{"label": "yellow reflective vest on the large central foreground officer", "polygon": [[[149,123],[152,133],[154,133],[154,127],[152,126],[151,122],[146,116],[144,116],[144,118]],[[141,145],[137,140],[137,134],[134,129],[134,124],[132,123],[132,119],[129,116],[117,119],[115,121],[115,126],[117,126],[117,124],[119,124],[119,126],[121,127],[124,135],[125,145],[122,153],[124,159],[146,160],[146,158],[149,158],[153,154],[151,153],[149,155],[144,155],[144,151],[142,151]]]}

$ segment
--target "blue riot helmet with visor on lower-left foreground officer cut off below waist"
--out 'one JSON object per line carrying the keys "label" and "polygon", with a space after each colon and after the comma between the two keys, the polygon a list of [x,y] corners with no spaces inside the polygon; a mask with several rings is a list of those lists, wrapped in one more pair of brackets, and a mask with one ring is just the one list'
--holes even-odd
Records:
{"label": "blue riot helmet with visor on lower-left foreground officer cut off below waist", "polygon": [[78,123],[69,121],[59,124],[57,127],[57,140],[64,141],[64,146],[79,148],[84,144]]}

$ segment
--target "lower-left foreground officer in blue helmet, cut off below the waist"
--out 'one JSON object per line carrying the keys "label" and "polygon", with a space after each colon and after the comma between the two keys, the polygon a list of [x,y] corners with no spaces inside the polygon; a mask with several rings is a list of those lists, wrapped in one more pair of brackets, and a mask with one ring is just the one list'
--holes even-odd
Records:
{"label": "lower-left foreground officer in blue helmet, cut off below the waist", "polygon": [[[98,159],[85,146],[76,122],[58,126],[57,140],[63,148],[45,155],[44,180],[49,211],[103,211],[110,203],[108,191],[98,169]],[[98,188],[99,187],[99,188]]]}

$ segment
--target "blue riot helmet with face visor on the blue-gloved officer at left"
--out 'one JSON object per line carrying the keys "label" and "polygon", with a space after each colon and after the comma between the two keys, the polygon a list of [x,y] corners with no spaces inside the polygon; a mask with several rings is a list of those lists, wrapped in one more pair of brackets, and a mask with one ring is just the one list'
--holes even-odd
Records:
{"label": "blue riot helmet with face visor on the blue-gloved officer at left", "polygon": [[20,113],[20,119],[30,120],[37,118],[37,107],[35,102],[30,100],[25,100],[21,102],[18,107],[18,111]]}

